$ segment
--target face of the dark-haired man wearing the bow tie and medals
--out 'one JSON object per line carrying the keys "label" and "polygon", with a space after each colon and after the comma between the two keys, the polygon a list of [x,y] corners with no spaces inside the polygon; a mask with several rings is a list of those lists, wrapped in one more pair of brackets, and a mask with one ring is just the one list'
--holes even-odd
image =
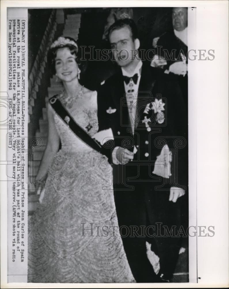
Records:
{"label": "face of the dark-haired man wearing the bow tie and medals", "polygon": [[125,67],[133,60],[136,53],[135,41],[128,27],[114,30],[109,36],[113,56],[119,66]]}

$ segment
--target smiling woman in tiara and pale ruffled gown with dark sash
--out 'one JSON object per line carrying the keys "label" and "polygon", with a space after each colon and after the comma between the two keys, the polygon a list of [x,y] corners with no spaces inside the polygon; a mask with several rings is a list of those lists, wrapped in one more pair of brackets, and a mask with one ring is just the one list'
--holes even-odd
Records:
{"label": "smiling woman in tiara and pale ruffled gown with dark sash", "polygon": [[[50,59],[64,87],[57,97],[94,136],[97,94],[78,82],[77,50],[72,38],[60,37],[51,46]],[[47,179],[43,201],[29,224],[28,282],[133,282],[118,233],[111,166],[50,103],[47,110],[48,142],[36,181],[42,185]]]}

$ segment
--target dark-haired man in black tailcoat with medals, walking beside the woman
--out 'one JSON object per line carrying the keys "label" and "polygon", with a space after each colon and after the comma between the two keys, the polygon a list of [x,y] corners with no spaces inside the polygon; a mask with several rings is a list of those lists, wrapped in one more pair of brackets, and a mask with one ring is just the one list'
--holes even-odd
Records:
{"label": "dark-haired man in black tailcoat with medals, walking beside the woman", "polygon": [[[116,21],[109,41],[120,70],[98,92],[99,130],[111,128],[113,188],[120,234],[137,282],[172,278],[180,249],[182,199],[187,195],[187,115],[179,86],[157,81],[137,55],[132,19]],[[135,55],[133,55],[135,54]],[[108,147],[108,144],[104,144]],[[146,241],[160,257],[154,273]]]}

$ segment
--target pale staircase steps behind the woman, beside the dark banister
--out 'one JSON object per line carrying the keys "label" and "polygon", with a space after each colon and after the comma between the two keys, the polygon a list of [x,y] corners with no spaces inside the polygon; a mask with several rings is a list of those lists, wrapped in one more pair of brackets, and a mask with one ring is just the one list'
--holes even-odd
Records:
{"label": "pale staircase steps behind the woman, beside the dark banister", "polygon": [[[69,36],[78,39],[78,34],[80,30],[80,20],[81,14],[71,14],[67,15],[67,19],[65,20],[63,36]],[[61,82],[56,82],[56,78],[52,77],[50,79],[50,87],[48,88],[48,97],[45,98],[46,103],[50,97],[53,97],[56,94],[59,94],[63,90],[63,86]],[[39,119],[39,129],[37,129],[35,137],[41,141],[41,146],[34,148],[33,160],[29,163],[29,176],[32,179],[35,179],[39,165],[41,162],[41,158],[43,156],[44,150],[47,144],[48,138],[48,119],[47,119],[47,108],[46,106],[42,108],[42,116]],[[29,179],[30,179],[29,178]],[[28,202],[28,213],[32,215],[33,212],[39,206],[39,196],[37,195],[37,188],[29,181],[28,184],[29,189],[29,202]]]}

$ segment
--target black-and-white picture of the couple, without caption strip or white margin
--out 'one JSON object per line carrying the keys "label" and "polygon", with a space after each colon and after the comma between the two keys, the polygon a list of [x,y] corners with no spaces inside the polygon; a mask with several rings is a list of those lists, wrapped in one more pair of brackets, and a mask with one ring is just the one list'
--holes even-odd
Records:
{"label": "black-and-white picture of the couple, without caption strip or white margin", "polygon": [[188,282],[188,8],[28,18],[28,282]]}

